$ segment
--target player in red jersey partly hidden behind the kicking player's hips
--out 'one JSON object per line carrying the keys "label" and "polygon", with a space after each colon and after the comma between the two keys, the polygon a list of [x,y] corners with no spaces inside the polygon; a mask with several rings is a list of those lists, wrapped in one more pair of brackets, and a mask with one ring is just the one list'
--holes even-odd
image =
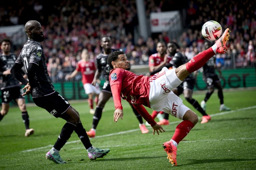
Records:
{"label": "player in red jersey partly hidden behind the kicking player's hips", "polygon": [[[171,60],[172,57],[166,54],[166,46],[164,42],[158,42],[156,45],[156,51],[157,53],[152,54],[149,56],[148,59],[148,65],[149,65],[149,71],[153,72],[159,68],[164,67],[167,65]],[[160,114],[158,114],[160,113]],[[156,110],[153,110],[151,113],[151,116],[155,118],[157,115],[159,115],[159,121],[163,119],[163,112],[158,112]],[[147,124],[147,123],[146,123]]]}

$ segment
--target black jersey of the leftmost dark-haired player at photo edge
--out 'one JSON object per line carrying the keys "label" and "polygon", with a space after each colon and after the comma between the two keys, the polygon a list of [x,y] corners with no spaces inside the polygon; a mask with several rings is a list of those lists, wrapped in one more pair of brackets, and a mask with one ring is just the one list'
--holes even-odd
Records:
{"label": "black jersey of the leftmost dark-haired player at photo edge", "polygon": [[[16,59],[17,59],[17,56],[15,54],[10,54],[10,55],[1,54],[0,55],[0,72],[4,72],[8,69],[11,69]],[[3,82],[0,85],[1,89],[21,86],[19,84],[20,82],[12,74],[2,75],[2,79],[3,79]]]}

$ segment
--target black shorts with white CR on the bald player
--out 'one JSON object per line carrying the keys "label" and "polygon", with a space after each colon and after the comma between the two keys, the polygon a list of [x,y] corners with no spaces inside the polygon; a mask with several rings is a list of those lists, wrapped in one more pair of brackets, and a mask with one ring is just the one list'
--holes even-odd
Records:
{"label": "black shorts with white CR on the bald player", "polygon": [[43,97],[33,98],[33,101],[37,106],[44,108],[55,117],[60,117],[70,107],[69,102],[56,91]]}

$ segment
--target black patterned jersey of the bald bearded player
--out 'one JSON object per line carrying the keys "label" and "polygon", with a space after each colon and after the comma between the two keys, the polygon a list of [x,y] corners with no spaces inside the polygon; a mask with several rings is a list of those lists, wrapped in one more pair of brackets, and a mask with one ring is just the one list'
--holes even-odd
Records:
{"label": "black patterned jersey of the bald bearded player", "polygon": [[24,44],[16,63],[22,63],[24,65],[26,74],[29,63],[38,65],[34,77],[36,85],[32,90],[33,98],[54,92],[54,87],[47,71],[43,46],[39,42],[28,40],[27,43]]}

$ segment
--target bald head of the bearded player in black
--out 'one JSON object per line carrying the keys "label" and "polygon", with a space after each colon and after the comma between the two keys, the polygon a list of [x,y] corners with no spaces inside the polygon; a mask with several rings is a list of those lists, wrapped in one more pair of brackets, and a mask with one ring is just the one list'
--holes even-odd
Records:
{"label": "bald head of the bearded player in black", "polygon": [[32,39],[37,42],[44,40],[44,33],[41,24],[38,21],[30,20],[25,24],[25,32],[28,39]]}

